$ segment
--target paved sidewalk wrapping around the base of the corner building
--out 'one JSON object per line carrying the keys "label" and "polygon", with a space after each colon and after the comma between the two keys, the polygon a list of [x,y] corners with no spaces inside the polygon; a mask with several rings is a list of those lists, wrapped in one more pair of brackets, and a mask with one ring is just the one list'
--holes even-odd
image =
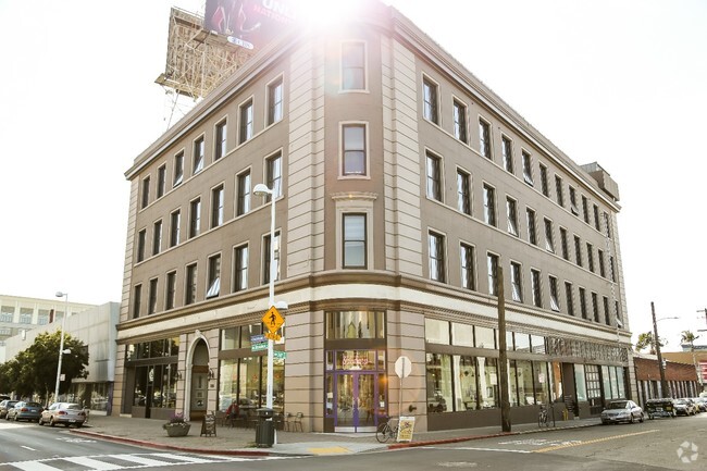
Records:
{"label": "paved sidewalk wrapping around the base of the corner building", "polygon": [[[162,430],[162,421],[153,419],[133,419],[91,414],[90,421],[82,429],[71,429],[72,433],[85,437],[111,439],[133,445],[178,451],[241,455],[346,455],[383,449],[426,446],[445,443],[467,442],[492,436],[518,435],[547,431],[537,424],[526,423],[511,426],[510,433],[503,433],[500,425],[479,429],[458,429],[438,432],[414,433],[410,443],[380,444],[375,433],[314,433],[277,431],[275,444],[271,448],[256,447],[256,431],[252,429],[216,427],[216,436],[200,436],[201,422],[191,422],[191,430],[185,437],[169,437]],[[558,421],[549,430],[568,430],[600,424],[598,418]]]}

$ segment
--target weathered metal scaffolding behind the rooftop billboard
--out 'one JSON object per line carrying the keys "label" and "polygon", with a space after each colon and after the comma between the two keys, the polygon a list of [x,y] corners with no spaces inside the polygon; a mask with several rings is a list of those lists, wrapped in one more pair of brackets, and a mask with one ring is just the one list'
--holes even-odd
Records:
{"label": "weathered metal scaffolding behind the rooftop billboard", "polygon": [[154,82],[169,89],[172,112],[179,96],[196,103],[255,54],[252,49],[234,45],[202,25],[203,17],[197,14],[175,7],[170,12],[166,65]]}

